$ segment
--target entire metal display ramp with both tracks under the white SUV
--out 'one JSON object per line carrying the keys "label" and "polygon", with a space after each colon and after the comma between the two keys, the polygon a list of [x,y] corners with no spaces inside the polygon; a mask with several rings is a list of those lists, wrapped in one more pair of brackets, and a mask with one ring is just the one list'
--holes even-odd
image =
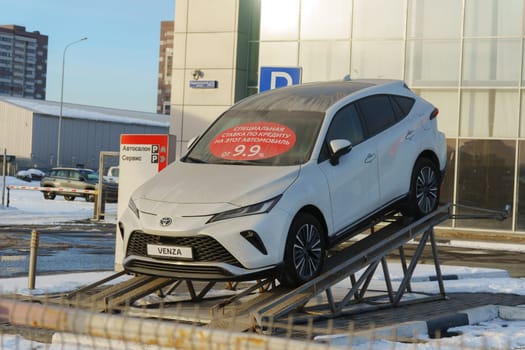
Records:
{"label": "entire metal display ramp with both tracks under the white SUV", "polygon": [[[61,305],[80,307],[97,312],[126,312],[130,315],[145,317],[169,318],[206,324],[213,328],[233,330],[266,329],[269,322],[279,322],[288,315],[309,317],[337,317],[355,312],[352,306],[368,303],[372,308],[399,306],[404,303],[422,302],[445,298],[443,278],[440,270],[434,226],[451,217],[450,205],[443,205],[433,213],[417,220],[407,222],[402,216],[392,216],[380,225],[371,226],[368,234],[359,240],[343,242],[337,250],[330,251],[325,268],[320,276],[299,286],[289,289],[280,286],[274,278],[268,278],[252,283],[227,283],[222,288],[213,281],[177,280],[155,276],[123,277],[119,272],[103,280],[77,289],[71,293],[56,296],[47,301]],[[376,230],[376,227],[378,229]],[[417,249],[409,263],[404,254],[403,246],[411,240],[419,240]],[[436,282],[439,294],[426,295],[423,298],[405,301],[403,296],[412,291],[410,281],[421,254],[430,242]],[[388,271],[387,256],[394,250],[399,250],[404,277],[397,290],[394,290]],[[381,264],[386,283],[386,292],[368,297],[370,283],[374,272]],[[357,277],[357,274],[364,272]],[[337,283],[349,279],[351,288],[340,295],[341,288],[334,292]],[[109,282],[113,283],[105,286]],[[224,284],[222,284],[224,285]],[[177,292],[176,301],[173,295]],[[139,299],[156,293],[160,301],[157,305],[149,305],[147,310],[135,307]],[[324,302],[319,303],[323,295]],[[38,299],[38,298],[34,298]],[[312,303],[312,300],[316,300]],[[386,300],[386,301],[385,301]],[[182,307],[180,307],[183,305]],[[200,313],[195,314],[195,305]],[[175,307],[173,307],[175,306]],[[184,314],[184,307],[188,313]],[[172,315],[173,314],[173,315]]]}

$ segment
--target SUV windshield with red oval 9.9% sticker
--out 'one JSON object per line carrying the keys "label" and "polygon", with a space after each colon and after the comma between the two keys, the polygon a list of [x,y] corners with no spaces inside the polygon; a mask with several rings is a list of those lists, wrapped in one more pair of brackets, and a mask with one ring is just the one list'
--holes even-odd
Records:
{"label": "SUV windshield with red oval 9.9% sticker", "polygon": [[312,153],[324,113],[229,110],[182,159],[185,162],[297,165]]}

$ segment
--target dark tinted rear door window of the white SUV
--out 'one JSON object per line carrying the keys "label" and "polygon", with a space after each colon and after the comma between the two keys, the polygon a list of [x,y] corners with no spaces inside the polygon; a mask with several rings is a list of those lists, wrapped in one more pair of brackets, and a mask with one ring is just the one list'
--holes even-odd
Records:
{"label": "dark tinted rear door window of the white SUV", "polygon": [[397,121],[387,95],[365,97],[357,103],[363,114],[369,136],[380,133]]}

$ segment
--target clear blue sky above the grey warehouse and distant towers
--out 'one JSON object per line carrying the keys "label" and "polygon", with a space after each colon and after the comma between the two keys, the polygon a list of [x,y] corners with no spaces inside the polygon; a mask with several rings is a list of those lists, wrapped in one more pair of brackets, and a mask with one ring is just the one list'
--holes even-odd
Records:
{"label": "clear blue sky above the grey warehouse and distant towers", "polygon": [[0,24],[48,36],[46,100],[156,112],[160,22],[175,0],[0,0]]}

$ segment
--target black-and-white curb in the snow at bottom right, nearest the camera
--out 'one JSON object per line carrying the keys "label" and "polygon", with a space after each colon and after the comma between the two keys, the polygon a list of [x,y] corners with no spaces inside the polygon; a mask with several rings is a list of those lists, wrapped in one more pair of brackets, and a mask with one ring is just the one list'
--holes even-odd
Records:
{"label": "black-and-white curb in the snow at bottom right, nearest the camera", "polygon": [[355,332],[352,335],[320,336],[316,341],[329,343],[330,346],[358,346],[377,339],[400,340],[407,338],[434,338],[449,334],[454,327],[475,325],[481,322],[501,318],[509,321],[525,321],[525,305],[499,306],[485,305],[457,313],[440,316],[427,321],[414,321]]}

